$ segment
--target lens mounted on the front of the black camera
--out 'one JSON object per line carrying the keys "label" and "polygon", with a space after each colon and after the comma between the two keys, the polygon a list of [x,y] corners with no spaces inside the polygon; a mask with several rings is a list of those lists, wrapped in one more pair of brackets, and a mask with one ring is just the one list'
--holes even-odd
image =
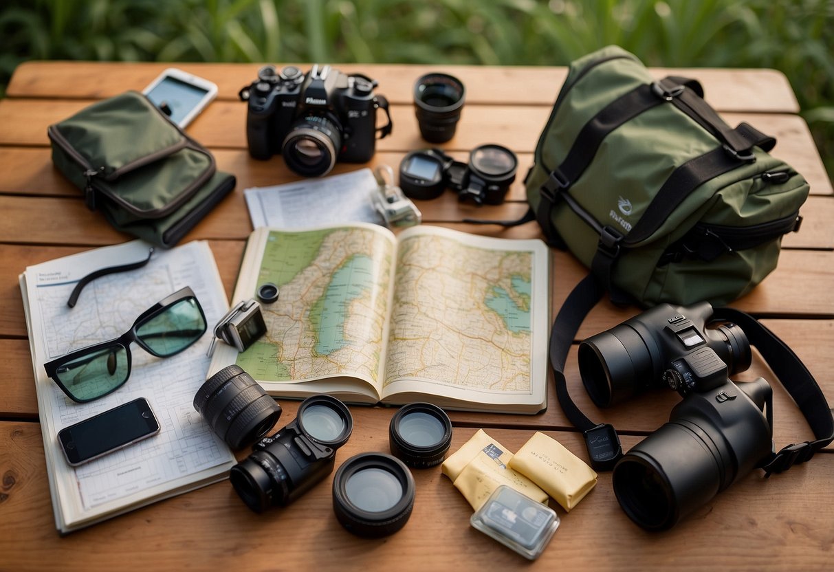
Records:
{"label": "lens mounted on the front of the black camera", "polygon": [[282,144],[284,163],[304,177],[330,172],[342,148],[339,126],[323,115],[305,115],[296,120]]}

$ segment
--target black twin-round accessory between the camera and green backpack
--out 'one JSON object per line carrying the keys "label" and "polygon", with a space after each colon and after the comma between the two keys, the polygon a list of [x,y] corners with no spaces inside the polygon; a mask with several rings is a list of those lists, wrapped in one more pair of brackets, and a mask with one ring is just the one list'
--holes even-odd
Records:
{"label": "black twin-round accessory between the camera and green backpack", "polygon": [[422,149],[407,154],[399,163],[399,186],[411,198],[436,198],[451,188],[461,201],[500,204],[515,181],[517,168],[515,153],[500,145],[472,149],[468,164],[455,161],[438,148]]}

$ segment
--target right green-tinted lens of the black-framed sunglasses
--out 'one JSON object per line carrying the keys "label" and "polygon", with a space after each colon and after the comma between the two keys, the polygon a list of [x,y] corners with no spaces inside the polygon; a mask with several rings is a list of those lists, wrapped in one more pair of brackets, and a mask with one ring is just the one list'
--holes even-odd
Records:
{"label": "right green-tinted lens of the black-framed sunglasses", "polygon": [[136,336],[152,354],[165,358],[188,348],[205,331],[206,321],[197,299],[186,298],[148,319],[136,329]]}

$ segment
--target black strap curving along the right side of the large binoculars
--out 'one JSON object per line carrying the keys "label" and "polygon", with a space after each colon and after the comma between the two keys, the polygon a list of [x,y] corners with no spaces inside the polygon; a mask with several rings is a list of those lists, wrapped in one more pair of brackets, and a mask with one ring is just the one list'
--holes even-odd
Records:
{"label": "black strap curving along the right side of the large binoculars", "polygon": [[816,379],[793,350],[759,320],[741,310],[717,308],[712,319],[732,322],[744,331],[750,344],[759,350],[782,387],[796,402],[816,437],[813,441],[786,445],[770,459],[765,459],[761,464],[765,476],[781,473],[795,464],[806,462],[816,451],[834,441],[834,409],[829,408]]}

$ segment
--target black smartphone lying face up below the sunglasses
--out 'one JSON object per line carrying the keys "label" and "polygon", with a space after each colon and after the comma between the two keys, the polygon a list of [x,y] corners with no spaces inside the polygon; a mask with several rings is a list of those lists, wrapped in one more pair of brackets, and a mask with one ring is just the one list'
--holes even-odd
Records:
{"label": "black smartphone lying face up below the sunglasses", "polygon": [[156,415],[148,399],[140,397],[61,429],[58,443],[75,467],[158,433]]}

